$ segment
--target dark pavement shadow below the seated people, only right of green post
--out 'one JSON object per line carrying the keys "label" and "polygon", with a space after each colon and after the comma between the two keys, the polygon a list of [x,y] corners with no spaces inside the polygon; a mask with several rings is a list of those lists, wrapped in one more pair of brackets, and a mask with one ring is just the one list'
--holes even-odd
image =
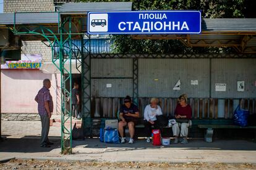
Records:
{"label": "dark pavement shadow below the seated people, only right of green post", "polygon": [[212,143],[203,142],[202,139],[189,140],[189,144],[171,144],[167,146],[154,146],[144,139],[135,140],[134,144],[105,144],[99,139],[74,140],[73,147],[83,148],[108,148],[117,150],[145,150],[157,148],[177,148],[180,150],[256,150],[256,143],[248,140],[216,140]]}

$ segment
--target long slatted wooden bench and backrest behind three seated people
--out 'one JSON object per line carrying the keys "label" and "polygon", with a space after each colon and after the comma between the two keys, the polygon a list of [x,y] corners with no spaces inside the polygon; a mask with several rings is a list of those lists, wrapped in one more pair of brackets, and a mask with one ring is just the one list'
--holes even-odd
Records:
{"label": "long slatted wooden bench and backrest behind three seated people", "polygon": [[[98,102],[95,102],[97,99]],[[160,97],[160,107],[165,116],[173,116],[175,107],[177,105],[177,98]],[[122,105],[123,98],[120,97],[96,97],[92,99],[92,136],[99,136],[100,128],[105,127],[105,119],[117,119],[119,116],[119,108]],[[135,126],[135,136],[145,137],[143,131],[143,111],[150,103],[150,97],[139,97],[139,113],[140,121]],[[248,109],[250,114],[256,113],[256,98],[254,99],[214,99],[214,98],[190,98],[188,103],[192,107],[192,126],[189,128],[189,137],[202,138],[204,136],[204,129],[208,132],[206,139],[212,141],[213,129],[237,129],[233,125],[234,108],[240,103],[241,107]],[[95,113],[100,113],[100,118],[93,118]],[[204,126],[202,126],[204,125]],[[207,125],[211,126],[208,129]],[[222,126],[225,125],[225,126]],[[227,126],[226,126],[227,125]],[[240,127],[239,127],[240,128]],[[126,128],[126,132],[128,128]],[[240,129],[253,129],[240,128]],[[212,134],[210,135],[210,130]],[[251,131],[251,130],[250,130]],[[219,132],[219,131],[218,131]],[[241,132],[241,131],[240,131]],[[163,128],[163,135],[172,137],[171,128]],[[217,134],[219,136],[219,133]],[[222,132],[220,133],[220,136]]]}

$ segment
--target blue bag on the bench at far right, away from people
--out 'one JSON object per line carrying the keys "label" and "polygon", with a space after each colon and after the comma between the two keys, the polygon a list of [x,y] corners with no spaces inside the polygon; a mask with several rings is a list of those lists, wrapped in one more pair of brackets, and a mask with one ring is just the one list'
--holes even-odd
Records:
{"label": "blue bag on the bench at far right, away from people", "polygon": [[249,110],[244,110],[240,108],[240,105],[238,105],[236,110],[234,111],[234,118],[233,118],[234,124],[238,126],[247,126],[248,116],[249,116]]}

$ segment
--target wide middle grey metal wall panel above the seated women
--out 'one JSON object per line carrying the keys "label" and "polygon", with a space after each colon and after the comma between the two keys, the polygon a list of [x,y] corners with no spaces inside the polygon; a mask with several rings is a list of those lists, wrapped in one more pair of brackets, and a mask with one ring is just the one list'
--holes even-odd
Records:
{"label": "wide middle grey metal wall panel above the seated women", "polygon": [[[181,90],[174,91],[178,80]],[[191,81],[198,81],[192,85]],[[139,59],[140,97],[210,97],[210,59]]]}

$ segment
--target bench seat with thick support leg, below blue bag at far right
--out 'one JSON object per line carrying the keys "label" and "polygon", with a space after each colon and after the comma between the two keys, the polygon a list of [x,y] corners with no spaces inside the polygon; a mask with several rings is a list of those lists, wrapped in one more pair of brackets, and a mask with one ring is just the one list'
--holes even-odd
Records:
{"label": "bench seat with thick support leg, below blue bag at far right", "polygon": [[[198,128],[205,130],[205,142],[213,141],[213,129],[256,129],[256,126],[236,126],[234,124],[198,124]],[[256,132],[255,132],[256,137]]]}

